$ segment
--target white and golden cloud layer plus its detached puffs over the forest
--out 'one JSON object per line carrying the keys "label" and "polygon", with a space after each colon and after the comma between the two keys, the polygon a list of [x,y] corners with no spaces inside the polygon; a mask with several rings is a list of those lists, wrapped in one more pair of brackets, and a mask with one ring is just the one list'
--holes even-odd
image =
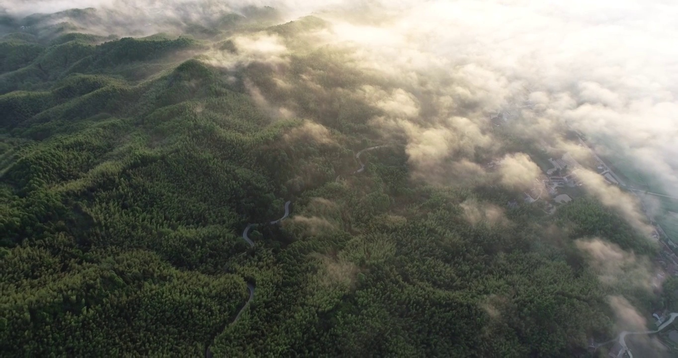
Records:
{"label": "white and golden cloud layer plus its detached puffs over the forest", "polygon": [[[2,9],[27,15],[107,7],[147,31],[164,31],[159,25],[153,28],[153,18],[171,18],[174,26],[214,19],[222,11],[240,12],[247,5],[275,7],[283,12],[283,20],[308,14],[329,20],[332,27],[317,38],[323,44],[351,45],[357,66],[383,75],[391,87],[365,85],[355,96],[382,110],[370,125],[383,130],[385,137],[397,132],[405,138],[414,178],[485,183],[491,174],[477,160],[485,155],[503,157],[498,181],[530,188],[540,174],[537,165],[521,153],[500,153],[487,120],[490,113],[529,99],[534,106],[516,110],[520,119],[513,124],[520,128],[523,141],[542,140],[577,156],[576,146],[558,133],[570,125],[656,177],[669,195],[678,196],[675,0],[0,0],[0,14]],[[270,35],[250,34],[235,43],[241,54],[213,56],[214,60],[222,65],[250,59],[285,64],[288,55],[283,40]],[[247,88],[260,106],[268,107],[256,87]],[[291,116],[287,110],[277,115]],[[311,122],[286,138],[296,136],[332,142],[327,128]],[[622,213],[635,228],[648,231],[629,195],[607,185],[598,174],[579,174],[592,195]],[[462,207],[470,222],[506,222],[498,207],[475,202]],[[296,216],[285,225],[304,235],[334,227],[319,216]],[[349,245],[348,254],[338,262],[323,258],[327,271],[323,279],[348,285],[357,273],[351,260],[375,247],[382,256],[374,257],[384,258],[395,250],[378,238],[365,245]],[[605,283],[629,275],[643,282],[649,275],[646,264],[614,245],[599,240],[577,245],[591,256]],[[610,306],[620,327],[644,327],[643,317],[624,298],[611,297]]]}

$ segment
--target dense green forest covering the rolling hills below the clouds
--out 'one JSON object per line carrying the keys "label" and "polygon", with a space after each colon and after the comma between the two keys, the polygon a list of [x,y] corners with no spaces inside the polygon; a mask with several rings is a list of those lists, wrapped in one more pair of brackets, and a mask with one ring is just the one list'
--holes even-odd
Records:
{"label": "dense green forest covering the rolling hills below the clouds", "polygon": [[[90,9],[0,16],[3,356],[603,357],[609,296],[676,307],[578,250],[653,256],[617,212],[414,179],[352,95],[391,84],[306,46],[320,18],[249,11],[134,37],[88,33]],[[252,33],[294,49],[283,70],[214,61]]]}

